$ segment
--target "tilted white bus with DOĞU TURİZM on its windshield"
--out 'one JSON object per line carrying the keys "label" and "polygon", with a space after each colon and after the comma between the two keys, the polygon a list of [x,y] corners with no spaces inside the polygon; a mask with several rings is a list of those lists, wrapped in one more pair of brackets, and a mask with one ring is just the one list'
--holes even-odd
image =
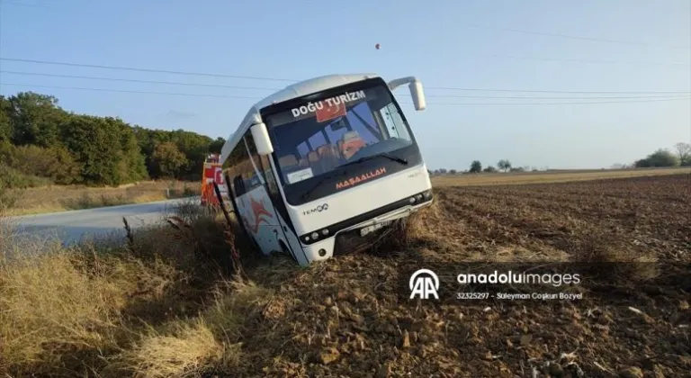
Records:
{"label": "tilted white bus with DO\u011eU TUR\u0130ZM on its windshield", "polygon": [[367,245],[432,203],[432,184],[405,115],[377,75],[332,75],[289,85],[247,112],[220,154],[238,220],[265,255],[301,266]]}

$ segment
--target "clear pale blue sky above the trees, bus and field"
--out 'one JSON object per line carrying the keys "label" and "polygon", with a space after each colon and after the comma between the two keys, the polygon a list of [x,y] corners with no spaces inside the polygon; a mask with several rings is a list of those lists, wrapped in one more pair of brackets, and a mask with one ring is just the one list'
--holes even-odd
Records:
{"label": "clear pale blue sky above the trees, bus and field", "polygon": [[0,94],[212,138],[292,81],[417,76],[425,111],[394,94],[431,169],[600,168],[691,142],[689,0],[0,0],[0,58],[255,77],[0,60]]}

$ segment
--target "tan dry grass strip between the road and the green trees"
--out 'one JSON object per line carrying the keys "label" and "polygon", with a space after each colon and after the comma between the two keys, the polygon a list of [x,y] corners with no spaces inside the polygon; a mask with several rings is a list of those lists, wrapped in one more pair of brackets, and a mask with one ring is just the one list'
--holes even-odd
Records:
{"label": "tan dry grass strip between the road and the green trees", "polygon": [[197,182],[151,181],[112,187],[52,185],[22,189],[10,209],[11,215],[88,209],[130,203],[156,202],[199,195]]}

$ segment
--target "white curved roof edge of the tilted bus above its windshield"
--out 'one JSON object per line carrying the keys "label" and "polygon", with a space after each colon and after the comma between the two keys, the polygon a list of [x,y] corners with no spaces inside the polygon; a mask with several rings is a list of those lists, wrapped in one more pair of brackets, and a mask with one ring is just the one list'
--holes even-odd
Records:
{"label": "white curved roof edge of the tilted bus above its windshield", "polygon": [[274,103],[282,103],[283,101],[292,100],[293,98],[301,97],[306,94],[317,93],[334,86],[346,85],[372,77],[379,77],[379,75],[349,74],[318,76],[288,85],[282,90],[265,97],[249,108],[249,112],[247,112],[245,118],[242,120],[242,122],[240,122],[238,129],[230,135],[230,138],[223,145],[223,148],[220,151],[220,162],[224,163],[226,161],[226,159],[230,156],[230,152],[232,152],[242,136],[245,135],[249,127],[256,122],[261,121],[259,112],[266,106]]}

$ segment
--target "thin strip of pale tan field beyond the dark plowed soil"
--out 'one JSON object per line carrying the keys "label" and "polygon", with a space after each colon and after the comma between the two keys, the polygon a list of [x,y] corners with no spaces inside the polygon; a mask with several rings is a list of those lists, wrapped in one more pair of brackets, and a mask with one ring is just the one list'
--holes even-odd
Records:
{"label": "thin strip of pale tan field beyond the dark plowed soil", "polygon": [[435,187],[472,186],[498,184],[547,184],[566,183],[571,181],[599,180],[603,178],[626,178],[656,175],[691,174],[691,167],[675,168],[636,168],[636,169],[601,169],[545,172],[508,172],[481,173],[477,175],[439,175],[432,179]]}

